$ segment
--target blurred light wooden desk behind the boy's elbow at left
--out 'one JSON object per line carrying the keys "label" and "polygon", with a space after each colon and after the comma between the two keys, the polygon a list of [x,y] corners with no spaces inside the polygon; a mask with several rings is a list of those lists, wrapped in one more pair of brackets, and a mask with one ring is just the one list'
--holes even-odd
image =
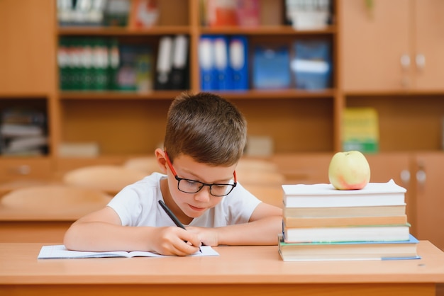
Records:
{"label": "blurred light wooden desk behind the boy's elbow at left", "polygon": [[100,190],[64,185],[11,190],[0,197],[0,242],[63,241],[72,222],[110,199]]}

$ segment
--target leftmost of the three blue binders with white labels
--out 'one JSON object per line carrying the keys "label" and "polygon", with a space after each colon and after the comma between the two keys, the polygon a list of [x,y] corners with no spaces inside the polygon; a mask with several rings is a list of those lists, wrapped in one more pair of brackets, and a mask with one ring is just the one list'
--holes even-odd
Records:
{"label": "leftmost of the three blue binders with white labels", "polygon": [[217,89],[214,69],[213,37],[201,35],[199,40],[199,71],[202,91]]}

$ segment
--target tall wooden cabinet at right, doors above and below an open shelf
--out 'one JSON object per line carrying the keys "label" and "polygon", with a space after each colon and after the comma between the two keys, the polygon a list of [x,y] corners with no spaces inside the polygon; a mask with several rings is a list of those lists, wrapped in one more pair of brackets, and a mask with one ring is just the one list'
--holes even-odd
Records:
{"label": "tall wooden cabinet at right, doors above and below an open shelf", "polygon": [[371,164],[377,161],[372,176],[396,181],[403,172],[396,183],[408,190],[411,232],[443,249],[444,60],[438,52],[444,51],[444,3],[372,3],[369,9],[365,1],[339,1],[344,106],[377,110],[381,153],[369,156]]}

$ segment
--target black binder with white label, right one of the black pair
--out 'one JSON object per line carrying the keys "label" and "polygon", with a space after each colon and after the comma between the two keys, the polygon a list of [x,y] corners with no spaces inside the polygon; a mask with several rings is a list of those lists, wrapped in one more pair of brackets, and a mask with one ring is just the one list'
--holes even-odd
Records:
{"label": "black binder with white label, right one of the black pair", "polygon": [[172,70],[170,76],[170,89],[188,89],[188,37],[176,35],[174,37],[172,53]]}

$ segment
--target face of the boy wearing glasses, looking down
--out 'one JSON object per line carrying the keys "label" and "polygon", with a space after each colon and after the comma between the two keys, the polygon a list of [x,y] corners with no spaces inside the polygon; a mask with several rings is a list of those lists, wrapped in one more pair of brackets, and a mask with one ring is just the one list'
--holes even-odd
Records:
{"label": "face of the boy wearing glasses, looking down", "polygon": [[[209,166],[208,164],[201,164],[194,161],[191,156],[180,155],[174,159],[172,164],[174,171],[176,171],[179,178],[186,178],[189,180],[199,181],[207,184],[226,184],[233,183],[233,173],[235,164],[233,166]],[[223,197],[218,197],[210,194],[209,186],[204,186],[196,193],[184,193],[177,188],[177,179],[174,178],[174,173],[167,165],[168,188],[172,200],[175,205],[172,205],[172,210],[179,219],[180,217],[199,217],[206,210],[216,206],[221,202]],[[186,183],[187,181],[182,180]],[[177,208],[176,208],[177,206]]]}

